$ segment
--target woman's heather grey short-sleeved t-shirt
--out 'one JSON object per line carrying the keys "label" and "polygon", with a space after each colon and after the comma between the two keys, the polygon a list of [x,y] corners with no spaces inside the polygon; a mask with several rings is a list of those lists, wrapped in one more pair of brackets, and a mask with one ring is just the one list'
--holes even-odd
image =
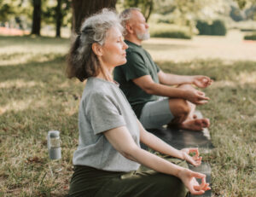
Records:
{"label": "woman's heather grey short-sleeved t-shirt", "polygon": [[103,134],[119,126],[126,126],[140,146],[137,117],[119,85],[88,78],[79,106],[79,147],[73,154],[73,165],[105,171],[136,171],[140,165],[119,154]]}

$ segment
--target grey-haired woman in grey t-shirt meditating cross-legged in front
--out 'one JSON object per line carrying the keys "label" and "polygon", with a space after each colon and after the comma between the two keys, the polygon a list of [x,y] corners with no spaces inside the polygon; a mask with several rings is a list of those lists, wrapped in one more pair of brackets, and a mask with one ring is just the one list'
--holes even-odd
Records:
{"label": "grey-haired woman in grey t-shirt meditating cross-legged in front", "polygon": [[[206,176],[182,166],[201,165],[198,150],[177,150],[144,130],[113,81],[113,68],[126,61],[122,32],[117,14],[104,9],[84,21],[67,58],[68,77],[87,79],[69,196],[178,197],[187,188],[203,194],[210,189]],[[140,142],[160,154],[143,150]]]}

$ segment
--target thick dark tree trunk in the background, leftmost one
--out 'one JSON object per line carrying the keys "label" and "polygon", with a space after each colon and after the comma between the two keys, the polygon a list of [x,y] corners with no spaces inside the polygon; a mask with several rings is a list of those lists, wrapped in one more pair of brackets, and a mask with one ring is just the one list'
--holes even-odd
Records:
{"label": "thick dark tree trunk in the background, leftmost one", "polygon": [[32,21],[32,34],[40,36],[41,29],[41,0],[33,0],[33,21]]}

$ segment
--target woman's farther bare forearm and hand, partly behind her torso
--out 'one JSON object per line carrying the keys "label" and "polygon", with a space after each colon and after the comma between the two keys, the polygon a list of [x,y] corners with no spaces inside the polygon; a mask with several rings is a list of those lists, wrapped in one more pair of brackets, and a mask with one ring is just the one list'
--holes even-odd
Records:
{"label": "woman's farther bare forearm and hand, partly behind her torso", "polygon": [[[201,165],[201,157],[199,157],[198,148],[183,148],[182,150],[177,150],[173,148],[166,142],[163,142],[157,136],[154,136],[152,133],[149,133],[147,130],[144,130],[143,125],[137,120],[140,128],[140,141],[152,148],[155,151],[160,152],[161,154],[167,154],[178,159],[185,159],[190,164],[198,166]],[[190,157],[190,153],[195,153],[194,157]]]}

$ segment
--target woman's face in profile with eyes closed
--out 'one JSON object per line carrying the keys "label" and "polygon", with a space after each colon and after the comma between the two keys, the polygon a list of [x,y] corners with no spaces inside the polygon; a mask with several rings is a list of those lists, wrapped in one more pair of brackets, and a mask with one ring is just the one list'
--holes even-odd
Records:
{"label": "woman's face in profile with eyes closed", "polygon": [[108,30],[105,43],[102,45],[102,61],[108,67],[116,67],[126,63],[126,52],[128,46],[123,40],[122,33],[118,28],[112,27]]}

